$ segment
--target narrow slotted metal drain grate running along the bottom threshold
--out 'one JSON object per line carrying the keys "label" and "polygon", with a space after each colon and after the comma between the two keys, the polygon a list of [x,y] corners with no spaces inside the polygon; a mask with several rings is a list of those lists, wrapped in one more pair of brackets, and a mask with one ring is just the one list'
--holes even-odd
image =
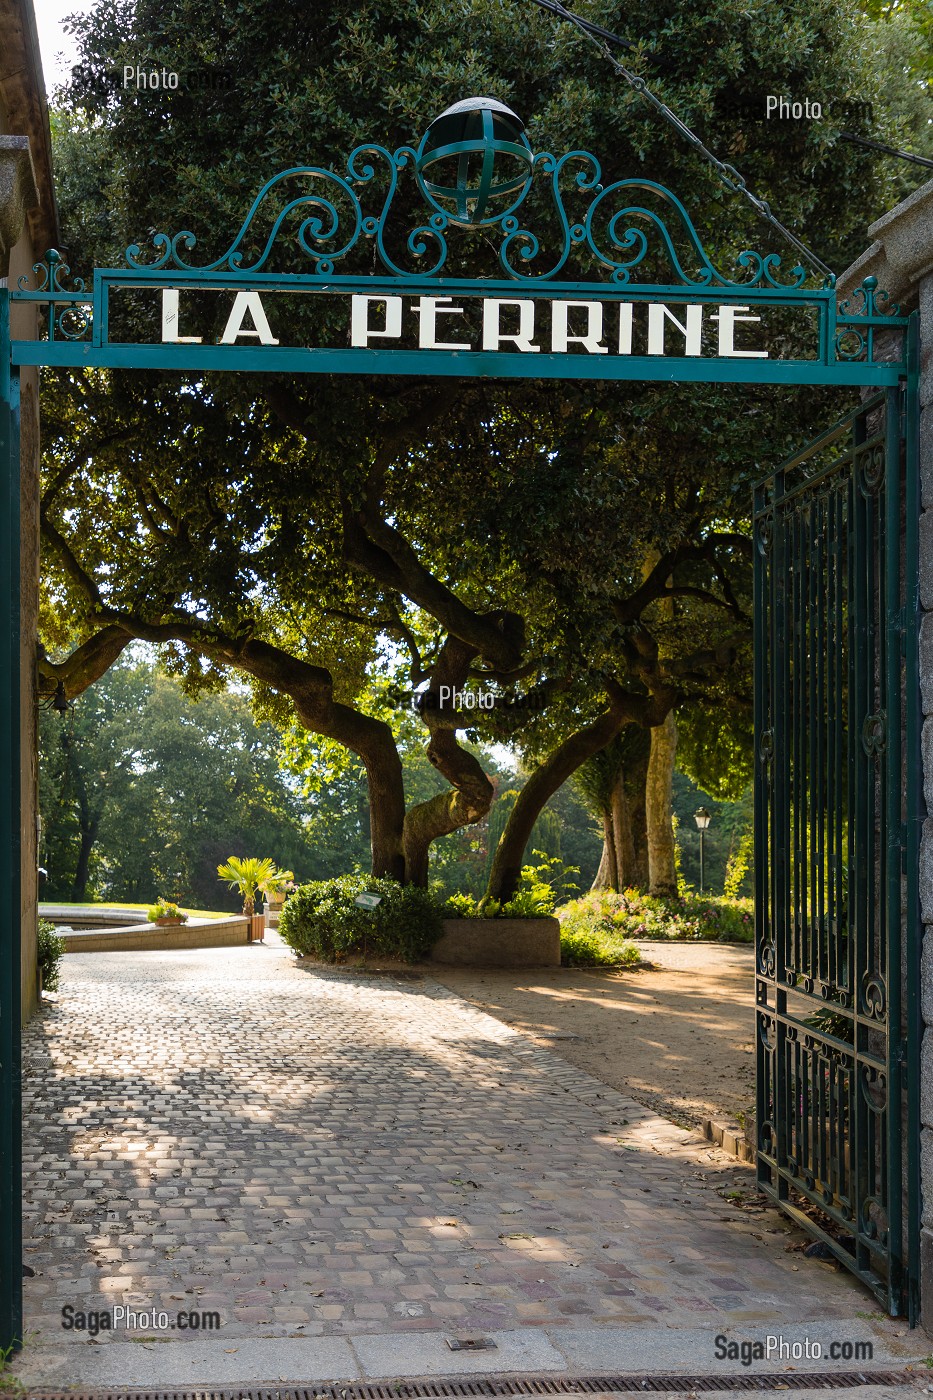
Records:
{"label": "narrow slotted metal drain grate running along the bottom threshold", "polygon": [[471,1400],[475,1396],[689,1394],[741,1390],[846,1390],[906,1386],[909,1371],[810,1371],[728,1376],[513,1376],[392,1380],[382,1385],[200,1386],[193,1390],[29,1390],[22,1400]]}

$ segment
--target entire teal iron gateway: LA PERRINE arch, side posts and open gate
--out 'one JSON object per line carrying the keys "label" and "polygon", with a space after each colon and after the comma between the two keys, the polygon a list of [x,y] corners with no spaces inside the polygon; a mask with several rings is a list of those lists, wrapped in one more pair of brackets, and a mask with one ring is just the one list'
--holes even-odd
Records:
{"label": "entire teal iron gateway: LA PERRINE arch, side posts and open gate", "polygon": [[[459,274],[465,253],[474,265],[483,256],[488,259],[485,276]],[[276,263],[286,270],[275,270]],[[284,325],[294,325],[296,318],[280,315],[283,298],[303,298],[304,343],[286,339]],[[15,304],[34,304],[41,311],[38,339],[11,339],[10,311]],[[182,230],[157,234],[146,252],[132,245],[123,266],[97,267],[90,287],[71,277],[56,251],[35,266],[32,279],[24,279],[13,290],[0,287],[0,595],[8,619],[0,665],[0,889],[4,893],[0,913],[0,1219],[4,1222],[0,1345],[22,1337],[20,928],[14,911],[20,909],[18,406],[20,368],[24,365],[186,374],[223,370],[873,388],[881,391],[887,403],[887,461],[899,461],[904,456],[901,442],[906,442],[905,518],[908,532],[913,532],[904,575],[908,581],[916,574],[919,515],[912,507],[919,402],[916,316],[901,315],[871,277],[848,302],[838,305],[832,277],[814,284],[804,267],[785,269],[776,253],[747,249],[738,253],[734,267],[723,267],[709,256],[675,193],[640,175],[604,183],[600,161],[588,151],[534,153],[521,119],[492,98],[455,104],[437,118],[416,147],[389,150],[370,143],[352,151],[342,171],[315,165],[283,171],[262,186],[235,238],[213,260],[202,259],[193,232]],[[839,490],[849,490],[853,500],[862,500],[857,470],[862,470],[866,444],[873,452],[878,451],[878,431],[867,410],[845,427],[855,475],[850,473]],[[838,456],[835,444],[832,438],[829,447]],[[810,458],[803,466],[793,463],[793,469],[800,469],[808,480]],[[821,479],[814,477],[817,496]],[[790,560],[782,535],[785,494],[793,503],[803,500],[790,489],[786,491],[786,480],[790,477],[782,468],[770,486],[762,487],[763,496],[756,497],[755,505],[756,529],[763,531],[759,542],[772,535],[779,542],[779,547],[768,552],[769,563],[756,566],[759,658],[769,644],[768,627],[775,631],[775,654],[782,657],[790,657],[792,643],[803,636],[800,627],[787,633],[782,622],[785,574],[773,566],[775,559]],[[871,500],[874,503],[876,497]],[[887,491],[884,501],[891,532],[897,532],[898,493]],[[792,504],[792,510],[796,508]],[[806,501],[800,510],[808,510]],[[877,514],[876,504],[866,517],[870,521],[876,518],[871,511]],[[891,547],[890,560],[894,557]],[[796,566],[792,561],[780,567]],[[891,599],[897,592],[894,584],[897,568]],[[839,589],[834,596],[842,598]],[[855,606],[846,612],[848,603],[839,602],[838,608],[841,617],[849,612],[855,617]],[[901,645],[904,655],[911,654],[911,647],[916,654],[909,608],[902,609],[904,636],[898,631],[901,610],[894,602],[890,612],[890,651],[885,655],[899,654]],[[793,655],[804,658],[800,651]],[[786,665],[792,664],[793,657]],[[911,685],[916,689],[915,679]],[[756,752],[762,760],[765,739],[772,736],[773,752],[778,732],[768,708],[769,686],[759,664]],[[894,830],[899,773],[891,764],[888,770]],[[763,840],[770,778],[758,781],[756,801],[759,816],[763,816],[759,839]],[[786,774],[780,781],[785,792]],[[912,841],[913,837],[902,839],[905,868],[916,857]],[[772,850],[768,861],[778,861],[780,874],[780,853],[775,855]],[[793,1008],[785,1005],[786,990],[778,987],[775,991],[776,1009],[768,1005],[773,969],[792,967],[793,959],[785,958],[787,934],[778,928],[780,958],[770,958],[765,966],[769,948],[773,952],[769,935],[778,927],[773,910],[786,909],[787,899],[782,895],[769,904],[768,893],[762,895],[763,871],[759,862],[759,1040],[765,1037],[772,1056],[769,1063],[776,1065],[778,1088],[772,1092],[768,1075],[759,1070],[759,1095],[768,1095],[759,1110],[783,1103],[792,1117],[797,1113],[803,1121],[806,1112],[799,1105],[810,1091],[804,1088],[803,1071],[794,1068],[797,1061],[792,1064],[785,1050],[818,1037],[813,1032],[807,1035],[806,1025],[799,1033]],[[891,937],[899,937],[894,883],[890,899],[891,923],[885,927]],[[801,906],[794,907],[800,913]],[[864,900],[860,907],[867,909]],[[808,917],[813,920],[813,909]],[[799,976],[794,967],[792,972]],[[800,976],[804,986],[810,974]],[[860,1012],[845,1002],[845,987],[827,986],[838,994],[841,1021],[848,1016],[846,1023],[860,1025]],[[881,1033],[878,1026],[880,1022],[874,1035]],[[773,1044],[772,1037],[776,1037]],[[845,1058],[848,1054],[845,1037],[824,1036],[824,1042],[838,1056]],[[898,1065],[906,1063],[908,1096],[916,1105],[916,1070],[912,1068],[916,1042],[902,1044],[895,1035],[888,1035],[885,1043],[887,1058],[876,1056],[866,1074],[877,1079],[877,1074],[885,1072],[894,1088],[902,1082]],[[807,1053],[818,1065],[817,1051]],[[820,1072],[813,1070],[817,1078]],[[846,1084],[855,1082],[849,1074]],[[855,1089],[846,1093],[852,1098]],[[866,1112],[876,1116],[880,1112],[874,1100],[864,1112],[862,1100],[852,1098],[852,1102],[853,1121],[857,1117],[862,1123]],[[901,1138],[894,1117],[885,1121],[885,1179],[897,1196]],[[787,1133],[800,1124],[770,1127],[773,1140],[763,1147],[759,1144],[759,1180],[789,1210],[790,1191],[811,1190],[810,1176],[820,1175],[822,1168],[814,1168],[810,1159],[803,1162],[796,1147],[796,1156],[787,1148]],[[863,1156],[876,1152],[871,1144],[881,1141],[880,1130],[873,1131],[874,1137],[864,1128],[857,1138],[856,1149]],[[906,1163],[908,1222],[916,1218],[919,1196],[913,1145],[911,1154]],[[838,1175],[848,1172],[849,1158],[843,1154],[832,1169]],[[864,1180],[864,1172],[857,1179]],[[852,1264],[841,1247],[836,1254],[876,1288],[890,1310],[897,1312],[904,1306],[905,1294],[899,1217],[891,1205],[887,1224],[878,1226],[880,1193],[874,1177],[871,1182],[873,1219],[859,1221],[856,1228],[852,1211],[839,1214],[841,1228],[850,1226],[857,1238],[857,1259]],[[916,1268],[912,1260],[905,1267],[911,1284],[906,1306],[913,1317]]]}

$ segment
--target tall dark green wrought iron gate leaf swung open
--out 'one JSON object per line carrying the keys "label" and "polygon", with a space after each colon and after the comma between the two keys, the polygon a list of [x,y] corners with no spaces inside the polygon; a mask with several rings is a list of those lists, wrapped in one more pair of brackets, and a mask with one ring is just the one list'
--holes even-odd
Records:
{"label": "tall dark green wrought iron gate leaf swung open", "polygon": [[912,1320],[915,399],[866,400],[756,487],[754,517],[758,1180]]}

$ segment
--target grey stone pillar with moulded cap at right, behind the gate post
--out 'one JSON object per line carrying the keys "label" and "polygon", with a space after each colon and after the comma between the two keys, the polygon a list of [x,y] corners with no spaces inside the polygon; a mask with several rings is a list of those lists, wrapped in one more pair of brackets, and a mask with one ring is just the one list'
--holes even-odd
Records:
{"label": "grey stone pillar with moulded cap at right, behind the gate post", "polygon": [[[869,228],[871,246],[839,279],[849,295],[874,276],[902,312],[920,314],[920,701],[923,799],[920,918],[920,1320],[933,1333],[933,181]],[[911,892],[908,892],[911,897]]]}

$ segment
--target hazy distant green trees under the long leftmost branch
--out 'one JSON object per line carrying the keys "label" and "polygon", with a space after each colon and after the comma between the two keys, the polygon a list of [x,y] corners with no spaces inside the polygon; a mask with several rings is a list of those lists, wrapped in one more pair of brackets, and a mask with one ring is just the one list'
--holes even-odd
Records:
{"label": "hazy distant green trees under the long leftmost branch", "polygon": [[161,890],[216,909],[227,902],[217,864],[244,848],[317,874],[276,729],[256,722],[242,690],[188,699],[147,647],[127,651],[64,720],[41,711],[39,804],[50,900],[146,904]]}

